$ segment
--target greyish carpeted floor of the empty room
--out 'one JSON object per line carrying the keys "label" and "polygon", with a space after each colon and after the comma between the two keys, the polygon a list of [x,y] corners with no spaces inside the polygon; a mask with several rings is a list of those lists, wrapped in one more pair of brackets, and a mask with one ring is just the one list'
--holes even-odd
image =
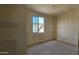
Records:
{"label": "greyish carpeted floor of the empty room", "polygon": [[49,41],[28,48],[27,55],[77,55],[76,46],[60,41]]}

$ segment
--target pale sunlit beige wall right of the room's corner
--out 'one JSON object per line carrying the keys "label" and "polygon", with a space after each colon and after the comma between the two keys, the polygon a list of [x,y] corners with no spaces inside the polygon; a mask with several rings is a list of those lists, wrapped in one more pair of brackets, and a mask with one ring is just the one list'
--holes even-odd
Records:
{"label": "pale sunlit beige wall right of the room's corner", "polygon": [[79,8],[58,16],[57,39],[78,46]]}

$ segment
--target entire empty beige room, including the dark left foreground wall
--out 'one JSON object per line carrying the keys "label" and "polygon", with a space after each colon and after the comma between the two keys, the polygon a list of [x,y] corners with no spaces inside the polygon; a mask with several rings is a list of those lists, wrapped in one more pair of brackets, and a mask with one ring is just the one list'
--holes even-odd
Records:
{"label": "entire empty beige room, including the dark left foreground wall", "polygon": [[0,5],[0,55],[78,55],[79,5]]}

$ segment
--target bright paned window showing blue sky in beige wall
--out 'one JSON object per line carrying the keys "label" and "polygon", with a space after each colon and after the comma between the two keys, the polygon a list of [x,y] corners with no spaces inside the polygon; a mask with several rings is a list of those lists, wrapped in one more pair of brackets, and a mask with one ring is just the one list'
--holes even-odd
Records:
{"label": "bright paned window showing blue sky in beige wall", "polygon": [[33,33],[44,33],[44,17],[32,16]]}

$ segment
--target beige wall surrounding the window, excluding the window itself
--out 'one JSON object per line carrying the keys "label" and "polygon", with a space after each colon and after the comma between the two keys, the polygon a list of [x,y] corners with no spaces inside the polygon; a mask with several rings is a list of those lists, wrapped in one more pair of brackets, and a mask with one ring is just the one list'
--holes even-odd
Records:
{"label": "beige wall surrounding the window, excluding the window itself", "polygon": [[[32,16],[43,16],[45,19],[45,33],[32,32]],[[27,45],[44,42],[54,38],[54,23],[53,17],[50,15],[41,14],[26,8],[26,25],[27,25]]]}

